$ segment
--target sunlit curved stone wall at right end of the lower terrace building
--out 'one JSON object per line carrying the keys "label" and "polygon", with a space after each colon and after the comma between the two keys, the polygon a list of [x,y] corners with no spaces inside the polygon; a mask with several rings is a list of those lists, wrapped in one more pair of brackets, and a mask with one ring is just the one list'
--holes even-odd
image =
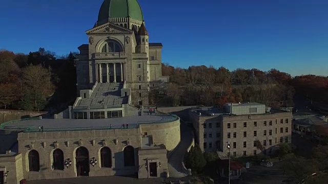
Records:
{"label": "sunlit curved stone wall at right end of the lower terrace building", "polygon": [[168,151],[180,142],[180,118],[170,123],[141,124],[140,129],[142,134],[147,132],[153,137],[155,145],[164,144]]}

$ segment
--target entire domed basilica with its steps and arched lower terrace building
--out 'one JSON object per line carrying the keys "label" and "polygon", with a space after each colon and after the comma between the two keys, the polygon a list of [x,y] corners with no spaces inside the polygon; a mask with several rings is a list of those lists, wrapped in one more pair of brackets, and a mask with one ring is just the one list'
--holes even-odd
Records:
{"label": "entire domed basilica with its steps and arched lower terrace building", "polygon": [[[79,176],[168,177],[180,119],[148,115],[161,76],[161,43],[150,43],[137,0],[105,0],[78,47],[79,97],[53,119],[0,124],[0,183]],[[181,162],[180,162],[181,163]]]}

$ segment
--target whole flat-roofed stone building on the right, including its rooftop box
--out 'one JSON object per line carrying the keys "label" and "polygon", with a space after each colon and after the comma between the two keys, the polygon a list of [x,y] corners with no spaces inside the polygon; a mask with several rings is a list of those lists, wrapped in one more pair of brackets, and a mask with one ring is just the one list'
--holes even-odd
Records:
{"label": "whole flat-roofed stone building on the right, including its rooftop box", "polygon": [[203,107],[189,112],[196,140],[203,151],[233,156],[270,153],[275,145],[291,143],[292,113],[271,109],[259,103],[227,103],[224,108]]}

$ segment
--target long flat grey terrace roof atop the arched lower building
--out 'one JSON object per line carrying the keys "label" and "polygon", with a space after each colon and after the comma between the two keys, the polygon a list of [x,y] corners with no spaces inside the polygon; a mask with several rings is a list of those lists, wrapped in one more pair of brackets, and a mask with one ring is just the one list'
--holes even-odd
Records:
{"label": "long flat grey terrace roof atop the arched lower building", "polygon": [[[129,116],[110,119],[42,119],[16,121],[4,125],[4,129],[17,129],[24,132],[39,131],[38,126],[43,126],[44,131],[74,131],[74,130],[105,130],[137,128],[139,124],[168,123],[176,121],[178,117],[171,115],[144,115]],[[122,125],[125,124],[125,127]]]}

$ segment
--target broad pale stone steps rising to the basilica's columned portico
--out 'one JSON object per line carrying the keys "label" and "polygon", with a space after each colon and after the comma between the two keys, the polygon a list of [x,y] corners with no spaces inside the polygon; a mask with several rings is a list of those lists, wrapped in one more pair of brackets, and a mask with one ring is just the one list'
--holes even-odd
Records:
{"label": "broad pale stone steps rising to the basilica's columned portico", "polygon": [[[90,98],[83,98],[77,101],[75,107],[99,107],[120,106],[127,104],[129,97],[121,97],[122,83],[97,83]],[[104,101],[104,103],[101,103]]]}

